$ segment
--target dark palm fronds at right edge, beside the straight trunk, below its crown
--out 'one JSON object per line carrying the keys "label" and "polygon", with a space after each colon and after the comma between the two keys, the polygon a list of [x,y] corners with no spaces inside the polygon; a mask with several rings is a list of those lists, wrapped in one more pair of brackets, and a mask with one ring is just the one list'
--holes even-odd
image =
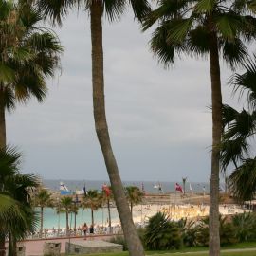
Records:
{"label": "dark palm fronds at right edge, beside the straight trunk, below its crown", "polygon": [[229,105],[223,105],[223,124],[225,133],[221,145],[221,164],[223,171],[232,164],[234,170],[229,175],[229,189],[240,202],[252,200],[256,191],[256,158],[250,150],[255,134],[256,123],[256,56],[243,64],[245,72],[235,74],[230,84],[239,96],[247,93],[247,110],[237,111]]}

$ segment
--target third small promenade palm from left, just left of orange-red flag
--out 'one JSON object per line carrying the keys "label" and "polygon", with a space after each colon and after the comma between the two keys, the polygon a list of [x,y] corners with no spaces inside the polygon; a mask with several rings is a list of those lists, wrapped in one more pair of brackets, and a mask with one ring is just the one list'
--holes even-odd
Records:
{"label": "third small promenade palm from left, just left of orange-red flag", "polygon": [[89,190],[83,197],[83,208],[91,210],[92,227],[94,227],[94,210],[98,210],[101,207],[101,201],[101,194],[97,190]]}

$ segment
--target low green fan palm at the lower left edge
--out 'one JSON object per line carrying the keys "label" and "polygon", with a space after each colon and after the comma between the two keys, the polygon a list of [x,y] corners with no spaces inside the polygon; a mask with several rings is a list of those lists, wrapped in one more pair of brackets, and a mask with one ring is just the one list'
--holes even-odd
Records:
{"label": "low green fan palm at the lower left edge", "polygon": [[7,235],[9,235],[9,255],[15,256],[17,239],[24,238],[27,232],[35,230],[37,222],[29,192],[39,186],[38,177],[34,174],[19,173],[20,158],[20,153],[14,148],[0,150],[1,256],[5,255]]}

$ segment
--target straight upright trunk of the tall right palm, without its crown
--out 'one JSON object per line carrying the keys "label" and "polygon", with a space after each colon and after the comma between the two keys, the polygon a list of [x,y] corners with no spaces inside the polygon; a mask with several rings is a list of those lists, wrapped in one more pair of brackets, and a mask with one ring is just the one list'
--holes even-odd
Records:
{"label": "straight upright trunk of the tall right palm, without its crown", "polygon": [[212,102],[212,152],[210,175],[210,241],[209,255],[220,255],[219,236],[219,160],[222,134],[222,95],[220,80],[220,65],[218,42],[215,32],[210,37],[210,78],[211,78],[211,102]]}

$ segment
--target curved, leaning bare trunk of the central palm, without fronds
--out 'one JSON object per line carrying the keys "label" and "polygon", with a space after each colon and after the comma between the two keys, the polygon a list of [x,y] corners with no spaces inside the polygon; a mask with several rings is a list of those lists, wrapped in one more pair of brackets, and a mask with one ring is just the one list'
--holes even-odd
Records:
{"label": "curved, leaning bare trunk of the central palm, without fronds", "polygon": [[93,106],[96,133],[101,145],[106,169],[113,189],[114,198],[119,212],[125,240],[130,256],[142,256],[144,250],[137,235],[129,205],[127,203],[119,168],[111,147],[110,137],[105,115],[104,78],[103,78],[103,48],[102,48],[102,11],[101,1],[92,1],[91,4],[91,40],[92,40],[92,83]]}

